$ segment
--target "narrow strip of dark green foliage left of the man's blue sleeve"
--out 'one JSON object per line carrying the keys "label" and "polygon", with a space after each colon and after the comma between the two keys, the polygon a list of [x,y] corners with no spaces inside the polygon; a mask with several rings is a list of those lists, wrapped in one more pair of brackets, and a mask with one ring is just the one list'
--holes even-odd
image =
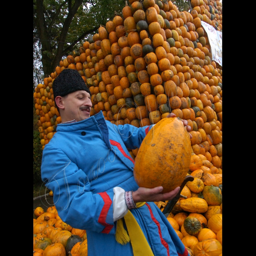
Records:
{"label": "narrow strip of dark green foliage left of the man's blue sleeve", "polygon": [[42,162],[42,145],[40,143],[40,133],[37,126],[37,116],[35,108],[33,111],[33,184],[41,185],[41,162]]}

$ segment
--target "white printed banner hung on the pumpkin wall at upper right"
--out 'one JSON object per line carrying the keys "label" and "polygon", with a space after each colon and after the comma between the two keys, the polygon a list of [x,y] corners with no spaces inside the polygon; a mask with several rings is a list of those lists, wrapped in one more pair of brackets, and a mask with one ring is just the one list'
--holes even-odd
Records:
{"label": "white printed banner hung on the pumpkin wall at upper right", "polygon": [[215,30],[214,27],[206,22],[201,21],[201,24],[206,31],[210,42],[212,60],[222,66],[222,32]]}

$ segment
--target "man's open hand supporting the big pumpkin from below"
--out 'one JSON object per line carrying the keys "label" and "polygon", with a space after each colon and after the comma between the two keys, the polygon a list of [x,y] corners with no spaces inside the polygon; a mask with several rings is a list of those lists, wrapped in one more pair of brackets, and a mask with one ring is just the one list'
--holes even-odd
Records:
{"label": "man's open hand supporting the big pumpkin from below", "polygon": [[163,187],[155,188],[138,188],[138,190],[132,192],[132,199],[134,203],[139,202],[159,202],[172,200],[179,192],[180,187],[175,188],[173,191],[167,193],[161,193]]}

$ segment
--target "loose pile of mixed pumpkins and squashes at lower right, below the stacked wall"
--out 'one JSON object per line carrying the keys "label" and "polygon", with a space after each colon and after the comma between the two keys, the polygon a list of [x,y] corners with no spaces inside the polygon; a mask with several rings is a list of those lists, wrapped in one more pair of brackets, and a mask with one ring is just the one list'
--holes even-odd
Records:
{"label": "loose pile of mixed pumpkins and squashes at lower right, below the stacked wall", "polygon": [[[167,217],[191,256],[222,256],[222,173],[215,168],[192,153],[187,175],[194,180],[187,182]],[[167,202],[155,203],[163,211]]]}

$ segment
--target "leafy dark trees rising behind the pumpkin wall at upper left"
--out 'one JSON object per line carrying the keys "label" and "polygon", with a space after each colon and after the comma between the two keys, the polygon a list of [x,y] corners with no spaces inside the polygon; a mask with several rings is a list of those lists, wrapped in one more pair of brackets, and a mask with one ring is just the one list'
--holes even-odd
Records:
{"label": "leafy dark trees rising behind the pumpkin wall at upper left", "polygon": [[124,0],[33,0],[34,87],[100,25],[113,19],[114,11],[121,14],[124,5]]}

